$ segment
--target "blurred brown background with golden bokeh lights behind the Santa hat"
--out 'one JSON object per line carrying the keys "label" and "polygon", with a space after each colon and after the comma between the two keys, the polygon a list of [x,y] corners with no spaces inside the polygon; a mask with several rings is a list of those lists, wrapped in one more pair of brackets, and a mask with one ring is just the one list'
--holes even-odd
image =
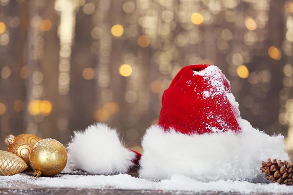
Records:
{"label": "blurred brown background with golden bokeh lights behind the Santa hat", "polygon": [[66,144],[100,121],[141,152],[172,78],[201,63],[293,150],[293,0],[0,0],[0,132]]}

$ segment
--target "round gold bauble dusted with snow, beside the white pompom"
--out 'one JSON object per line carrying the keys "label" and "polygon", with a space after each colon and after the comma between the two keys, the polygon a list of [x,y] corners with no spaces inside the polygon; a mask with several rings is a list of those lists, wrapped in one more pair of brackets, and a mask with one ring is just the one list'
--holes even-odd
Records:
{"label": "round gold bauble dusted with snow, beside the white pompom", "polygon": [[67,163],[67,151],[55,139],[42,139],[31,150],[30,165],[35,176],[56,176]]}

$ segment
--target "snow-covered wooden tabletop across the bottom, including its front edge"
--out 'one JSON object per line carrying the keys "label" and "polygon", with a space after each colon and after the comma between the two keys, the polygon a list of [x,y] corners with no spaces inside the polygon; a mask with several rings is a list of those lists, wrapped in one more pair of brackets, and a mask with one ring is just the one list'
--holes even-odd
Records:
{"label": "snow-covered wooden tabletop across the bottom, including its front edge", "polygon": [[293,186],[247,181],[201,182],[186,176],[151,181],[127,174],[85,176],[60,174],[33,178],[32,173],[0,176],[0,194],[292,194]]}

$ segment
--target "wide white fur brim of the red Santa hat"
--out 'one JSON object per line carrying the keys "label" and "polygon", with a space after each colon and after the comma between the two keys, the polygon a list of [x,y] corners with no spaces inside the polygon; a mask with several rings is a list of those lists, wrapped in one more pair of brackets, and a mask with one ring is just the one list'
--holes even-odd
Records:
{"label": "wide white fur brim of the red Santa hat", "polygon": [[238,122],[242,128],[238,135],[230,131],[184,135],[151,126],[142,141],[140,176],[161,180],[181,174],[202,181],[253,180],[264,175],[259,170],[262,160],[288,159],[283,136],[271,137],[244,119]]}

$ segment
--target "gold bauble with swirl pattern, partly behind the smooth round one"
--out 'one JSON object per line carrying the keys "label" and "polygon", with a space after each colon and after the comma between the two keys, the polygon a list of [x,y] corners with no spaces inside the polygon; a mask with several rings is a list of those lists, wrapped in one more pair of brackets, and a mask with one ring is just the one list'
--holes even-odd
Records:
{"label": "gold bauble with swirl pattern, partly behind the smooth round one", "polygon": [[9,135],[5,139],[5,143],[8,145],[7,152],[11,152],[20,156],[27,164],[27,171],[31,170],[29,165],[29,155],[32,147],[40,140],[32,134],[21,134],[17,137]]}

